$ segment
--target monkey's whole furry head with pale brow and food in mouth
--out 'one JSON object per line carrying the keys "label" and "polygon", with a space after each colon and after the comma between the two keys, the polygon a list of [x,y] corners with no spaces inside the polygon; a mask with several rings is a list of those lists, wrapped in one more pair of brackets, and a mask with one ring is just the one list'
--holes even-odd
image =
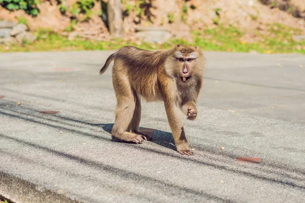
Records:
{"label": "monkey's whole furry head with pale brow and food in mouth", "polygon": [[167,72],[181,80],[182,83],[188,83],[192,77],[202,73],[204,58],[199,47],[176,45],[172,49],[171,67],[166,68]]}

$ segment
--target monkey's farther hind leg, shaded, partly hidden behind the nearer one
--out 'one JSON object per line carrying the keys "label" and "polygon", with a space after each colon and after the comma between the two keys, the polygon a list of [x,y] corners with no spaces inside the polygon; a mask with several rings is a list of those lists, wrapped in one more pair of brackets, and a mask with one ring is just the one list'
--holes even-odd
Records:
{"label": "monkey's farther hind leg, shaded, partly hidden behind the nearer one", "polygon": [[153,137],[148,136],[148,134],[142,133],[139,130],[140,120],[141,120],[141,100],[138,96],[135,96],[135,98],[136,98],[136,106],[135,106],[135,110],[134,110],[132,120],[129,124],[129,127],[128,127],[127,131],[139,134],[145,140],[148,140],[148,141],[153,140]]}

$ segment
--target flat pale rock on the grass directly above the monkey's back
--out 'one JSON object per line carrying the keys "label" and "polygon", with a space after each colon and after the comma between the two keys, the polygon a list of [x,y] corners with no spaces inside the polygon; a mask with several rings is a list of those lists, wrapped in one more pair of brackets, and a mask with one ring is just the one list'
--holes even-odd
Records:
{"label": "flat pale rock on the grass directly above the monkey's back", "polygon": [[144,42],[163,44],[171,34],[163,27],[137,27],[136,37]]}

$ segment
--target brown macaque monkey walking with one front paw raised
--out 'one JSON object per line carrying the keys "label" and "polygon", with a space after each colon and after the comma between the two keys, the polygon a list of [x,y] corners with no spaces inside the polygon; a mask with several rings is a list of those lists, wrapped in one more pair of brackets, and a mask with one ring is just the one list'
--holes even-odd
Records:
{"label": "brown macaque monkey walking with one front paw raised", "polygon": [[197,117],[196,102],[202,86],[205,58],[199,47],[176,45],[167,51],[148,51],[125,46],[111,54],[112,83],[117,99],[111,135],[121,141],[142,143],[150,138],[139,132],[141,97],[164,101],[168,122],[180,154],[193,155],[179,114],[189,120]]}

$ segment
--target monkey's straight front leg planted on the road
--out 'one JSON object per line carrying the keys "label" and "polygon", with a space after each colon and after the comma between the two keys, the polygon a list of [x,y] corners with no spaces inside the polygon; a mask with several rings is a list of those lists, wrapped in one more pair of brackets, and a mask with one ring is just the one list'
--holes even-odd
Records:
{"label": "monkey's straight front leg planted on the road", "polygon": [[166,100],[164,105],[177,151],[180,154],[193,155],[194,153],[189,149],[186,133],[179,114],[179,108],[175,105],[174,101]]}

